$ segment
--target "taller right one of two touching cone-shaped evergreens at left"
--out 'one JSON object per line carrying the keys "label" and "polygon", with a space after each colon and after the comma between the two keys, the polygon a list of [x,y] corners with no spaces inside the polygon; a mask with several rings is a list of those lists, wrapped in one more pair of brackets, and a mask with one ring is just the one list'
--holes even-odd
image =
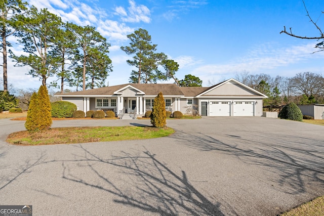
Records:
{"label": "taller right one of two touching cone-shaped evergreens at left", "polygon": [[39,129],[49,129],[52,125],[51,102],[46,85],[41,85],[38,90],[38,118],[41,121]]}

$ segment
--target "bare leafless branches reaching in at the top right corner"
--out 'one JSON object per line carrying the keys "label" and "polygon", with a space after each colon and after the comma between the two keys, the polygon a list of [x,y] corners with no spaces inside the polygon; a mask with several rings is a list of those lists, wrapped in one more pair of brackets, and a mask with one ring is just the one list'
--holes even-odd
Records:
{"label": "bare leafless branches reaching in at the top right corner", "polygon": [[[306,13],[307,13],[307,17],[310,19],[310,22],[316,27],[316,29],[318,30],[319,32],[319,36],[300,36],[300,35],[296,35],[293,33],[292,31],[292,28],[289,28],[289,31],[286,30],[286,26],[284,26],[284,30],[282,30],[280,32],[281,33],[285,33],[285,34],[288,34],[290,36],[293,36],[293,37],[297,37],[297,38],[301,38],[301,39],[315,39],[315,40],[320,40],[320,39],[324,39],[324,34],[322,32],[322,30],[320,29],[320,27],[317,25],[317,21],[314,21],[311,16],[309,15],[308,13],[308,10],[306,8],[306,5],[305,5],[305,2],[303,0],[303,4],[304,4],[304,8],[306,10]],[[324,13],[323,11],[321,12],[322,14]],[[324,51],[324,40],[321,41],[321,42],[318,42],[316,45],[315,45],[315,48],[318,48],[319,51],[316,51],[316,52],[320,52],[320,51]],[[313,53],[316,53],[316,52],[313,52]]]}

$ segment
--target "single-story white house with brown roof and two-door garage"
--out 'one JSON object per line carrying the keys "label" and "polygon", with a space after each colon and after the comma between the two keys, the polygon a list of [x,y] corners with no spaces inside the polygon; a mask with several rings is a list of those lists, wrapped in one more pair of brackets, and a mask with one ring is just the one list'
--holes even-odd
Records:
{"label": "single-story white house with brown roof and two-door garage", "polygon": [[262,116],[267,96],[231,78],[212,87],[178,87],[177,84],[127,83],[55,95],[76,104],[78,110],[113,110],[116,115],[143,115],[161,92],[169,111],[201,116]]}

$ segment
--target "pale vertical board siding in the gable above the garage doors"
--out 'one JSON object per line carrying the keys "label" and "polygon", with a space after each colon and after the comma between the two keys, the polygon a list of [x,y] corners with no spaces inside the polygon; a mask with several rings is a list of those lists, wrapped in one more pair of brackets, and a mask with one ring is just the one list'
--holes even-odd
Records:
{"label": "pale vertical board siding in the gable above the garage doors", "polygon": [[237,84],[237,83],[225,83],[223,85],[221,85],[220,87],[213,89],[209,92],[207,92],[206,94],[204,94],[204,96],[208,96],[208,95],[246,95],[246,96],[250,96],[250,95],[256,95],[254,92],[243,88],[241,85]]}

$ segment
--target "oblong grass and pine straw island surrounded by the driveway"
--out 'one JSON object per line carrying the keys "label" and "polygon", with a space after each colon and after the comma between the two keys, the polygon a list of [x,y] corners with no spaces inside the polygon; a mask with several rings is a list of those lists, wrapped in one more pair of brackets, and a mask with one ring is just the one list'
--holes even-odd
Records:
{"label": "oblong grass and pine straw island surrounded by the driveway", "polygon": [[174,133],[170,127],[110,126],[110,127],[55,127],[41,132],[21,131],[8,136],[15,145],[51,145],[121,140],[142,140],[166,137]]}

